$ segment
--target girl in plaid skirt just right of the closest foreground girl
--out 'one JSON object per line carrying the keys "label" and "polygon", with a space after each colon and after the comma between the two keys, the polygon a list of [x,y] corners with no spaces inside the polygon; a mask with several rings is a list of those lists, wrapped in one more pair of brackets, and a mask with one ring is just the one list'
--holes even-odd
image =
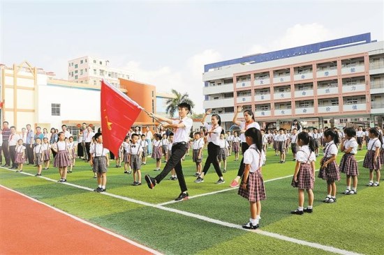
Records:
{"label": "girl in plaid skirt just right of the closest foreground girl", "polygon": [[[290,212],[293,215],[303,215],[304,212],[313,212],[313,183],[315,182],[315,146],[313,138],[308,133],[301,132],[297,136],[300,150],[296,154],[296,167],[293,174],[292,186],[299,191],[299,207]],[[308,206],[304,208],[304,190],[308,194]]]}

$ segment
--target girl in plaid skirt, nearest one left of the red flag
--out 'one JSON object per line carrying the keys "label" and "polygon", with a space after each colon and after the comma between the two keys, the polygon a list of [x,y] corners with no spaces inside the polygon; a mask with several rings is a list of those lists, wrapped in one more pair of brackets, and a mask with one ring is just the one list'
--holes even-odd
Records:
{"label": "girl in plaid skirt, nearest one left of the red flag", "polygon": [[59,132],[58,136],[59,141],[57,141],[55,146],[52,146],[54,151],[57,153],[56,157],[54,157],[53,166],[59,167],[60,180],[58,182],[65,183],[68,166],[71,166],[72,162],[69,158],[68,143],[64,141],[66,138],[64,132]]}

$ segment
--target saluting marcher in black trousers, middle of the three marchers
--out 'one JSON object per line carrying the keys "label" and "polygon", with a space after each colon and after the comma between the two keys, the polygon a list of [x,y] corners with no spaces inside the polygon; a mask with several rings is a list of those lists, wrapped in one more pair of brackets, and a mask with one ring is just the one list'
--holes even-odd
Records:
{"label": "saluting marcher in black trousers, middle of the three marchers", "polygon": [[217,176],[219,176],[219,180],[216,181],[216,184],[222,184],[222,183],[225,183],[226,181],[223,178],[223,173],[221,173],[221,169],[219,166],[219,162],[217,161],[217,157],[219,156],[219,153],[220,153],[219,137],[221,134],[221,130],[223,130],[223,128],[221,127],[221,118],[218,114],[212,114],[212,117],[211,117],[212,125],[209,125],[208,123],[205,122],[205,118],[207,118],[207,115],[211,113],[212,113],[212,109],[208,109],[201,119],[201,123],[204,125],[205,128],[207,128],[207,133],[208,133],[208,140],[207,140],[208,141],[208,157],[207,157],[207,160],[205,160],[202,173],[195,180],[195,183],[204,182],[204,176],[207,174],[209,167],[211,167],[211,164],[213,164],[214,169],[217,173]]}

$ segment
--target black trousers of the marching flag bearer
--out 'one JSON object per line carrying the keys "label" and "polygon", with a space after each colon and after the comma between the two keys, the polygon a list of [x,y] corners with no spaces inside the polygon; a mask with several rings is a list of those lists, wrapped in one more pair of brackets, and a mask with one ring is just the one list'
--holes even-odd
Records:
{"label": "black trousers of the marching flag bearer", "polygon": [[155,177],[156,183],[160,183],[172,169],[175,169],[177,180],[179,180],[180,190],[182,190],[182,192],[187,191],[182,167],[182,157],[184,157],[185,153],[186,144],[175,144],[172,146],[172,155],[167,164],[165,164],[163,171]]}

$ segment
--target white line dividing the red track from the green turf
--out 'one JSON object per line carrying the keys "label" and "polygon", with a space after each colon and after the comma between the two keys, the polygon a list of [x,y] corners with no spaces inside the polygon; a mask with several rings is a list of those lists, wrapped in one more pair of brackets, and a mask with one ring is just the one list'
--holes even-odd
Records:
{"label": "white line dividing the red track from the green turf", "polygon": [[95,224],[92,224],[92,223],[90,223],[90,222],[87,222],[87,221],[85,221],[84,219],[80,219],[79,217],[76,217],[75,215],[71,215],[71,214],[69,214],[68,212],[64,212],[63,210],[60,210],[60,209],[58,209],[58,208],[54,208],[53,206],[50,206],[50,205],[48,205],[47,203],[44,203],[44,202],[42,202],[42,201],[38,201],[37,199],[31,198],[30,196],[27,196],[27,195],[25,195],[25,194],[22,194],[22,193],[20,193],[20,192],[15,191],[15,190],[11,190],[11,189],[9,189],[8,187],[4,187],[3,185],[0,185],[0,187],[2,187],[3,189],[9,190],[10,192],[15,192],[16,194],[19,194],[20,196],[24,196],[24,197],[26,197],[27,199],[31,199],[31,201],[34,201],[34,202],[36,202],[36,203],[40,203],[40,204],[42,204],[43,206],[47,206],[48,208],[51,208],[51,209],[53,209],[53,210],[55,210],[55,211],[57,211],[57,212],[60,212],[60,213],[62,213],[62,214],[64,214],[64,215],[68,216],[68,217],[71,217],[72,219],[77,220],[77,222],[81,222],[81,223],[83,223],[83,224],[86,224],[86,225],[88,225],[88,226],[93,227],[94,229],[98,229],[98,230],[100,230],[100,231],[103,231],[104,233],[108,233],[109,235],[112,235],[112,236],[114,236],[115,238],[119,238],[120,240],[123,240],[123,241],[125,241],[125,242],[128,242],[128,243],[131,244],[131,245],[135,245],[136,247],[139,247],[139,248],[141,248],[141,249],[145,249],[147,252],[152,252],[153,254],[161,255],[160,252],[157,252],[157,251],[155,251],[154,249],[151,249],[151,248],[149,248],[149,247],[145,247],[144,245],[140,245],[138,242],[135,242],[135,241],[130,240],[130,239],[128,239],[128,238],[124,238],[124,236],[122,236],[122,235],[118,235],[117,233],[113,233],[113,232],[111,232],[111,231],[109,231],[109,230],[107,230],[107,229],[103,229],[103,228],[101,228],[100,226],[97,226],[97,225],[95,225]]}

